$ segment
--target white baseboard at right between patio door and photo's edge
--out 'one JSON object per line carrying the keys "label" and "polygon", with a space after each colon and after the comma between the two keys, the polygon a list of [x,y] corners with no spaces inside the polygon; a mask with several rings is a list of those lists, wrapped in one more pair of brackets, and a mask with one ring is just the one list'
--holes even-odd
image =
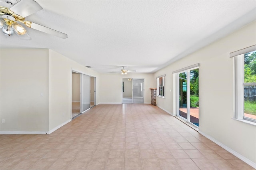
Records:
{"label": "white baseboard at right between patio door and photo's edge", "polygon": [[211,136],[208,136],[207,134],[204,134],[203,132],[201,132],[200,130],[198,130],[198,132],[200,134],[202,134],[203,136],[205,136],[206,138],[212,140],[212,142],[218,144],[220,147],[224,148],[225,150],[227,150],[228,152],[230,152],[231,154],[233,154],[234,156],[238,157],[240,160],[244,161],[245,163],[247,163],[248,165],[252,166],[253,168],[256,169],[256,163],[252,162],[251,160],[249,160],[248,158],[242,156],[241,154],[239,154],[238,152],[234,151],[233,149],[229,148],[228,146],[224,145],[223,143],[219,142],[218,140],[212,138]]}

